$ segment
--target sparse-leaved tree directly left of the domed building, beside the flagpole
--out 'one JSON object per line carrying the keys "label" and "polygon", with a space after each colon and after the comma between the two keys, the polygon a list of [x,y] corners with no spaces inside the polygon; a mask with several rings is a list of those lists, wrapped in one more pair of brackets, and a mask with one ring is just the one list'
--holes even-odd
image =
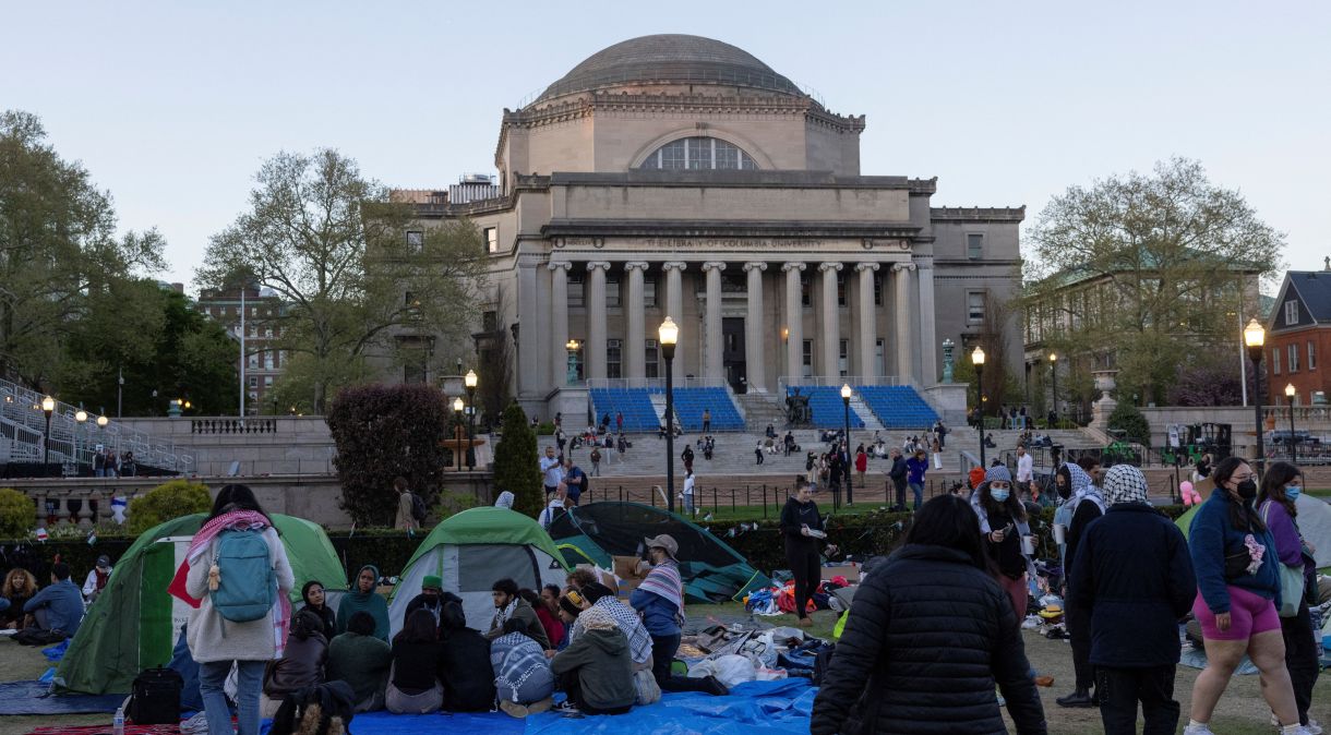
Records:
{"label": "sparse-leaved tree directly left of the domed building, beside the flagpole", "polygon": [[447,346],[441,364],[461,357],[454,345],[469,341],[484,277],[475,226],[413,224],[413,205],[393,201],[337,150],[278,153],[256,182],[249,210],[213,236],[197,280],[217,288],[253,280],[282,298],[269,324],[280,328],[280,349],[310,358],[315,411],[330,389],[365,374],[370,353],[397,356],[399,333],[431,345],[438,337]]}

